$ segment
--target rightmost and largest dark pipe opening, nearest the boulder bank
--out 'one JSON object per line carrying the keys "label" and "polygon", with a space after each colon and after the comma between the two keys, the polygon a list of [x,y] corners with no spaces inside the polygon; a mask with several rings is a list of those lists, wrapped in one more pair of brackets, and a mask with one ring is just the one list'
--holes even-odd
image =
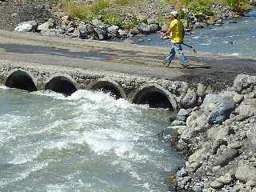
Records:
{"label": "rightmost and largest dark pipe opening, nearest the boulder bank", "polygon": [[134,98],[134,103],[147,104],[150,108],[174,110],[166,95],[158,90],[142,90],[141,93]]}

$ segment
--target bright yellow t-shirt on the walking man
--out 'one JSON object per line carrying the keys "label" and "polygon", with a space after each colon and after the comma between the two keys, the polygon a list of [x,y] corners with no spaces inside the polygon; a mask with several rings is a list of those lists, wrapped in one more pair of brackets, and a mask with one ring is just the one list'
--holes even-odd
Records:
{"label": "bright yellow t-shirt on the walking man", "polygon": [[180,20],[174,19],[172,22],[170,22],[169,29],[170,29],[170,39],[172,43],[183,42],[184,26]]}

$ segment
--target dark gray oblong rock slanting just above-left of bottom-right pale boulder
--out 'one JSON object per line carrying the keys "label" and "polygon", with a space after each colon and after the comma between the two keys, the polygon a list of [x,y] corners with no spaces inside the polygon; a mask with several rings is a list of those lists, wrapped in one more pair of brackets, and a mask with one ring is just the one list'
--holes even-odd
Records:
{"label": "dark gray oblong rock slanting just above-left of bottom-right pale boulder", "polygon": [[239,156],[239,151],[234,149],[226,149],[215,160],[214,166],[226,166],[230,161]]}

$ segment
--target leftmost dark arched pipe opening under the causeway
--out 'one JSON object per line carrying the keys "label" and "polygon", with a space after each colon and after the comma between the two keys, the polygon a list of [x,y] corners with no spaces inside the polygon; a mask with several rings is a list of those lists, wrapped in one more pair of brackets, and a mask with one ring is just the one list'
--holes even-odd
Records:
{"label": "leftmost dark arched pipe opening under the causeway", "polygon": [[33,79],[26,72],[17,70],[10,74],[7,78],[5,86],[16,88],[20,90],[36,91],[37,87],[34,85]]}

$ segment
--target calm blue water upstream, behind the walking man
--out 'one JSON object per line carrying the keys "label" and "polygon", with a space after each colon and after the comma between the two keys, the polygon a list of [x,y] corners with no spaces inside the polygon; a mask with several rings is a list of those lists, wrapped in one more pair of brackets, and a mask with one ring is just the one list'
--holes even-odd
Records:
{"label": "calm blue water upstream, behind the walking man", "polygon": [[[234,21],[237,23],[230,23]],[[170,40],[162,40],[159,36],[150,34],[134,38],[134,41],[147,46],[170,46]],[[226,21],[223,26],[194,30],[186,34],[185,42],[199,51],[256,58],[256,10],[251,11],[248,17]]]}

